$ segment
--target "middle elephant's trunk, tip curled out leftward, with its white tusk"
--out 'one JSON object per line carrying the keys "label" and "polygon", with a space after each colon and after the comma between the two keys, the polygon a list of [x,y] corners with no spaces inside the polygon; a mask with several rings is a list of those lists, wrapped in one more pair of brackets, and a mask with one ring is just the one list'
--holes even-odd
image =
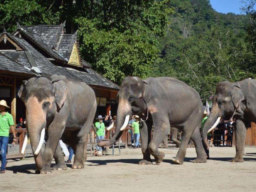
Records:
{"label": "middle elephant's trunk, tip curled out leftward, with its white tusk", "polygon": [[99,147],[113,145],[123,133],[123,130],[128,124],[131,116],[132,107],[127,100],[119,100],[117,109],[117,120],[115,126],[115,133],[112,138],[108,141],[101,141],[98,143]]}

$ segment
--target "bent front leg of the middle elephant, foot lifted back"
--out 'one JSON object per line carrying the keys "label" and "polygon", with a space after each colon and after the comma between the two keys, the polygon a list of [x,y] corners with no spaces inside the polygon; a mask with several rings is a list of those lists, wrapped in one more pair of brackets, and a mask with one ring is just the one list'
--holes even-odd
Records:
{"label": "bent front leg of the middle elephant, foot lifted back", "polygon": [[156,163],[161,163],[163,158],[165,157],[165,154],[163,152],[160,152],[158,150],[158,146],[163,141],[165,136],[170,131],[170,122],[169,118],[165,117],[163,114],[158,115],[157,121],[154,121],[154,134],[152,141],[148,145],[148,151],[151,155],[155,157]]}

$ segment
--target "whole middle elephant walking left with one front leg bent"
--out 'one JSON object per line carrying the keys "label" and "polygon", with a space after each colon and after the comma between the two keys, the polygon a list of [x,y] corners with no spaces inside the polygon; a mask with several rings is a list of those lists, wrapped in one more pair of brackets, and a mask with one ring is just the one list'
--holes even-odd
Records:
{"label": "whole middle elephant walking left with one front leg bent", "polygon": [[[207,161],[199,132],[204,106],[199,94],[184,82],[171,77],[150,77],[146,80],[126,77],[118,93],[118,102],[115,134],[110,140],[98,143],[99,146],[112,145],[117,141],[122,135],[120,128],[125,116],[147,115],[148,104],[148,120],[143,122],[140,129],[143,160],[139,164],[152,164],[150,155],[153,155],[156,163],[162,162],[165,155],[158,151],[158,146],[170,132],[170,127],[184,133],[174,163],[183,163],[190,137],[196,146],[197,158],[194,162]],[[154,134],[151,140],[152,124]]]}

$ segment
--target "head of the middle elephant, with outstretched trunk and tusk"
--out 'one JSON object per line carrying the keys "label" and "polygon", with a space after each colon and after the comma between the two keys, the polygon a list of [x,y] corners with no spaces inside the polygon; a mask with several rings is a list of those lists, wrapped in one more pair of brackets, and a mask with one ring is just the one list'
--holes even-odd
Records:
{"label": "head of the middle elephant, with outstretched trunk and tusk", "polygon": [[139,77],[126,77],[118,92],[118,109],[115,134],[108,141],[98,143],[99,146],[114,144],[122,135],[132,114],[142,114],[153,97],[151,86]]}

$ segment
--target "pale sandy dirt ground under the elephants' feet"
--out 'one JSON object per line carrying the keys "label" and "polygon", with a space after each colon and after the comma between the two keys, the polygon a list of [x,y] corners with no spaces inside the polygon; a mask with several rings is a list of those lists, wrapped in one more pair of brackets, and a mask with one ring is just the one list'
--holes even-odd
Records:
{"label": "pale sandy dirt ground under the elephants' feet", "polygon": [[177,148],[160,150],[165,153],[161,164],[138,165],[141,149],[129,148],[120,156],[88,157],[84,169],[68,164],[66,171],[39,175],[33,158],[9,160],[0,175],[1,191],[256,191],[256,148],[245,149],[243,163],[230,162],[234,147],[211,147],[207,163],[193,163],[195,149],[188,148],[183,165],[171,162]]}

